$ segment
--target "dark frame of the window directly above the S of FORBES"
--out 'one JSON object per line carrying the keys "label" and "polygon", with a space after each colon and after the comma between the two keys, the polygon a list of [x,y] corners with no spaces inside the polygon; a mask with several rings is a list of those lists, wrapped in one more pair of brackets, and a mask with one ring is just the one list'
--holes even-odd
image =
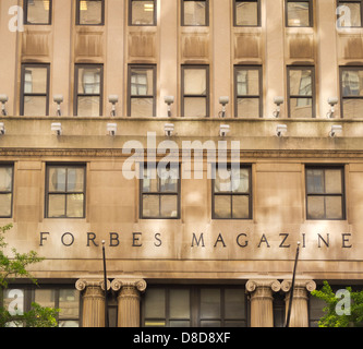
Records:
{"label": "dark frame of the window directly above the S of FORBES", "polygon": [[[159,164],[158,164],[159,165]],[[156,170],[158,168],[158,165],[156,166]],[[145,169],[147,170],[147,164],[144,164],[144,167],[140,168],[140,197],[138,197],[138,218],[140,219],[168,219],[168,220],[178,220],[181,219],[181,165],[173,163],[174,166],[178,165],[178,170],[179,170],[179,178],[178,178],[178,183],[177,183],[177,192],[161,192],[161,191],[157,191],[157,192],[144,192],[143,188],[144,188],[144,171]],[[169,166],[167,166],[167,168],[170,168],[170,164]],[[159,186],[159,181],[160,178],[157,176],[157,180],[158,180],[158,186]],[[159,216],[157,217],[153,217],[153,216],[144,216],[144,195],[153,195],[153,196],[158,196],[159,198]],[[177,196],[177,216],[176,217],[162,217],[161,216],[161,196]]]}

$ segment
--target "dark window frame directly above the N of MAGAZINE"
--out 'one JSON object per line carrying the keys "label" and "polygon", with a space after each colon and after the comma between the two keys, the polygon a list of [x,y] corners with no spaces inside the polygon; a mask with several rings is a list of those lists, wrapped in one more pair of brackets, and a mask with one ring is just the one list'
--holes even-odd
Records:
{"label": "dark window frame directly above the N of MAGAZINE", "polygon": [[[308,193],[307,191],[307,170],[324,170],[324,176],[326,170],[340,170],[341,171],[341,193]],[[346,167],[344,165],[305,165],[304,169],[305,176],[305,209],[306,209],[306,220],[337,220],[342,221],[347,220],[347,195],[346,195]],[[340,196],[341,197],[341,218],[327,218],[326,217],[326,207],[324,201],[324,217],[323,218],[311,218],[308,217],[308,197],[310,196]]]}

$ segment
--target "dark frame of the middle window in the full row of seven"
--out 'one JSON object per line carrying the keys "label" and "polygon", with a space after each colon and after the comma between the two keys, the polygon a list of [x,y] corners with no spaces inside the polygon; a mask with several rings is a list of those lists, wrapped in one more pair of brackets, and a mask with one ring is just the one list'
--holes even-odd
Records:
{"label": "dark frame of the middle window in the full row of seven", "polygon": [[[205,70],[206,72],[206,93],[205,95],[191,95],[184,93],[185,87],[185,70]],[[185,117],[185,98],[205,98],[206,103],[206,116],[201,118],[210,117],[210,77],[208,64],[182,64],[181,65],[181,116],[182,118],[199,118],[199,117]]]}

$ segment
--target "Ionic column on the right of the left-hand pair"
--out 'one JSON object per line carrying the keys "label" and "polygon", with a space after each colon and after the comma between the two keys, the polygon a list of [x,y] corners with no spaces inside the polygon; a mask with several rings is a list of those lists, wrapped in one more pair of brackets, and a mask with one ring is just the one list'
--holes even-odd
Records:
{"label": "Ionic column on the right of the left-hand pair", "polygon": [[140,292],[146,290],[144,279],[114,279],[111,282],[118,296],[118,326],[140,327]]}

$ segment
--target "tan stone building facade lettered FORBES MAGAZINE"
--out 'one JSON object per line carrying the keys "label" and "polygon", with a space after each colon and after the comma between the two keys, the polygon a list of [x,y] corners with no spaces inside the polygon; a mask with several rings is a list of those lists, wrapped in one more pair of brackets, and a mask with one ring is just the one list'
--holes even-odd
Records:
{"label": "tan stone building facade lettered FORBES MAGAZINE", "polygon": [[105,326],[105,241],[112,326],[282,326],[300,241],[316,325],[362,284],[362,8],[1,0],[0,224],[46,258],[5,305]]}

